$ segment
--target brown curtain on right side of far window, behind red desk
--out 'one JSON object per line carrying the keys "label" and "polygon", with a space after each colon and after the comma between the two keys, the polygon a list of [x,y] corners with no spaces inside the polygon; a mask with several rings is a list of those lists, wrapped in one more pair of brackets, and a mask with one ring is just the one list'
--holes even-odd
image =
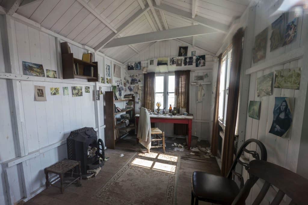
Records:
{"label": "brown curtain on right side of far window, behind red desk", "polygon": [[[174,95],[176,96],[176,108],[178,109],[178,112],[180,112],[180,108],[186,108],[186,112],[189,112],[190,70],[175,71],[174,73],[175,73]],[[187,124],[174,124],[173,133],[175,135],[187,135],[188,125]]]}

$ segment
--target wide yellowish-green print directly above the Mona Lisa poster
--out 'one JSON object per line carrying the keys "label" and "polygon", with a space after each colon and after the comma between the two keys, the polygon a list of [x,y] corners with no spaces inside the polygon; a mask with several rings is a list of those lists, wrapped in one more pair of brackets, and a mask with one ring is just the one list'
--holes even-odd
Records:
{"label": "wide yellowish-green print directly above the Mona Lisa poster", "polygon": [[276,70],[274,88],[299,90],[301,68]]}

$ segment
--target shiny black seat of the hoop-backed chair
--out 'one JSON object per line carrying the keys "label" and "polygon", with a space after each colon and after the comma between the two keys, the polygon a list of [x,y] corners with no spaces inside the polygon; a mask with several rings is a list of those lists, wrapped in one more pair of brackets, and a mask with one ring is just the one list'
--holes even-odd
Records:
{"label": "shiny black seat of the hoop-backed chair", "polygon": [[240,191],[233,180],[202,171],[193,172],[192,188],[200,200],[226,204],[231,204]]}

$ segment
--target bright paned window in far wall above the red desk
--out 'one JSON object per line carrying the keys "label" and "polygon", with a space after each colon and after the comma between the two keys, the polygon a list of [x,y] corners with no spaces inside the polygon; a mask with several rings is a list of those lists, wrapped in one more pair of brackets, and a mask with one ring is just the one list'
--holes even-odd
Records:
{"label": "bright paned window in far wall above the red desk", "polygon": [[166,110],[168,110],[170,104],[172,108],[174,107],[174,89],[174,74],[166,73],[155,76],[155,110],[157,109],[157,102],[161,103],[160,109],[166,107]]}

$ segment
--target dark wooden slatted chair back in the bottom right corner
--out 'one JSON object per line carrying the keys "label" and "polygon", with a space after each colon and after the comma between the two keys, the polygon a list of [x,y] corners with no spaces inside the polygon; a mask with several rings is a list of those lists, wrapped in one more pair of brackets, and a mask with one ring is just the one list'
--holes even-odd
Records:
{"label": "dark wooden slatted chair back in the bottom right corner", "polygon": [[260,204],[262,202],[271,185],[279,189],[271,205],[279,204],[284,195],[292,199],[290,205],[304,205],[308,203],[308,179],[286,168],[262,160],[251,161],[248,173],[249,179],[247,179],[244,187],[232,204],[245,204],[250,189],[258,179],[265,180],[265,183],[253,204]]}

